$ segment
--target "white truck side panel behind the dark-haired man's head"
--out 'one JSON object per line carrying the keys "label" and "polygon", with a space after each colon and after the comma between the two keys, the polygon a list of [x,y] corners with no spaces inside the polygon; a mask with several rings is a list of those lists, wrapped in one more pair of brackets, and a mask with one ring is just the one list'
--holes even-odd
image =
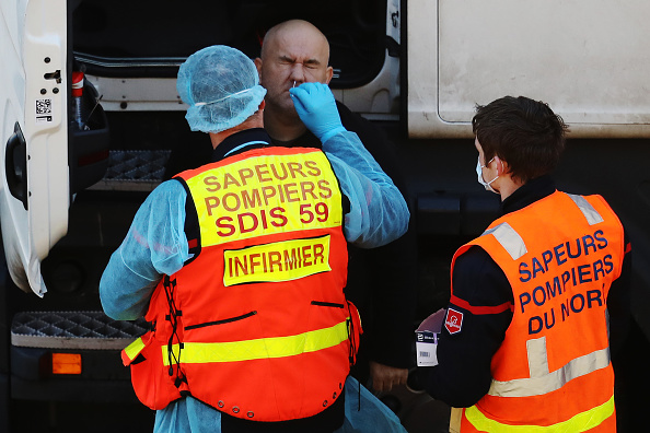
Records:
{"label": "white truck side panel behind the dark-haired man's head", "polygon": [[544,101],[573,138],[648,137],[650,2],[427,0],[407,13],[414,138],[471,137],[475,104]]}

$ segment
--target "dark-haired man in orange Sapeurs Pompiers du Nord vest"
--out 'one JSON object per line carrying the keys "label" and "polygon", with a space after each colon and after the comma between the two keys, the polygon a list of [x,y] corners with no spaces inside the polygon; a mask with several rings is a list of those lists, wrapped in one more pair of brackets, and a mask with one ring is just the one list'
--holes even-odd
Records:
{"label": "dark-haired man in orange Sapeurs Pompiers du Nord vest", "polygon": [[610,354],[629,320],[623,225],[602,197],[556,189],[567,126],[546,104],[507,96],[472,122],[478,182],[502,216],[454,255],[439,364],[420,378],[453,407],[454,432],[614,432]]}

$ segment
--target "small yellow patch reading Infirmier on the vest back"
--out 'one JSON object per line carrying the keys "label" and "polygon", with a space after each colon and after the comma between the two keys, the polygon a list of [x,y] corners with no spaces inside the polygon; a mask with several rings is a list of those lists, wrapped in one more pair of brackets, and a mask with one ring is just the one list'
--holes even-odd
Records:
{"label": "small yellow patch reading Infirmier on the vest back", "polygon": [[329,235],[223,251],[223,285],[298,280],[330,271]]}

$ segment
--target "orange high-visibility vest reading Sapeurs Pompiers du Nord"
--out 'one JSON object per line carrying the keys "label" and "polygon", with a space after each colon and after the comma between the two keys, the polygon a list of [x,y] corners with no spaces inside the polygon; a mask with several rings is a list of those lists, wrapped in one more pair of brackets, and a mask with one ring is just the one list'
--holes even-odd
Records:
{"label": "orange high-visibility vest reading Sapeurs Pompiers du Nord", "polygon": [[503,270],[514,311],[488,394],[453,410],[452,431],[615,432],[606,301],[625,246],[610,206],[556,191],[462,246],[452,273],[473,245]]}

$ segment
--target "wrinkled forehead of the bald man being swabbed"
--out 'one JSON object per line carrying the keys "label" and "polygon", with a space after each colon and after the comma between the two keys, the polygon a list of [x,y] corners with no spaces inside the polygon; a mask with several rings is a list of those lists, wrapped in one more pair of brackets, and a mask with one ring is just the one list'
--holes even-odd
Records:
{"label": "wrinkled forehead of the bald man being swabbed", "polygon": [[329,50],[322,35],[297,30],[278,32],[270,40],[269,55],[295,60],[317,60],[327,65]]}

